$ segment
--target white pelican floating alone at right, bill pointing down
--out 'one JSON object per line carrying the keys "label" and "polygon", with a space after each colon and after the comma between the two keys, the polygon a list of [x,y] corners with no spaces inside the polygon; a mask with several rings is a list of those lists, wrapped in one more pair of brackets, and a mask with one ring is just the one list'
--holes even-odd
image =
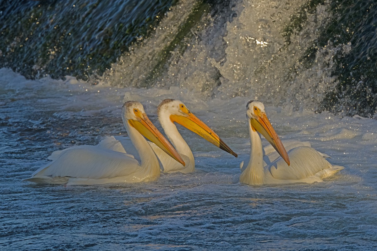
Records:
{"label": "white pelican floating alone at right, bill pointing down", "polygon": [[[246,105],[250,133],[251,152],[248,163],[241,163],[240,182],[249,185],[313,183],[334,175],[343,166],[332,166],[315,149],[300,146],[291,149],[288,154],[267,118],[263,103],[249,101]],[[261,133],[276,149],[281,157],[264,167]]]}

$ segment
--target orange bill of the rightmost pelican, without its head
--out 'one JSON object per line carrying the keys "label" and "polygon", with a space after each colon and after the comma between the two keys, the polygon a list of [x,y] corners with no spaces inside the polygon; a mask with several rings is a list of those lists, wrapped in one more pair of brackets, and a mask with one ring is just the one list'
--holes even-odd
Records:
{"label": "orange bill of the rightmost pelican, without its head", "polygon": [[257,119],[250,119],[250,124],[252,128],[262,134],[268,142],[275,148],[275,150],[280,154],[280,156],[287,162],[288,166],[290,161],[288,158],[287,151],[283,146],[282,141],[277,135],[275,129],[272,127],[270,120],[268,120],[266,113],[259,112],[257,113]]}

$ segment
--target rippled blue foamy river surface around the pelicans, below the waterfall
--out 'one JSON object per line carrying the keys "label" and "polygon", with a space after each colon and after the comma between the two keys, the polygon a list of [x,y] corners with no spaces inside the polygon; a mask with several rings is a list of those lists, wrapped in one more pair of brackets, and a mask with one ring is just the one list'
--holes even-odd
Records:
{"label": "rippled blue foamy river surface around the pelicans, below the waterfall", "polygon": [[[250,187],[239,162],[250,143],[244,97],[207,102],[179,88],[113,88],[75,79],[30,81],[0,70],[3,250],[374,250],[377,121],[267,107],[282,139],[310,141],[345,169],[315,184]],[[155,97],[152,97],[152,93]],[[12,95],[10,95],[12,94]],[[196,172],[102,186],[26,183],[52,151],[125,134],[124,97],[137,97],[156,122],[160,100],[176,97],[239,154],[181,129]],[[157,123],[156,123],[157,124]],[[72,143],[74,142],[74,143]],[[267,145],[266,141],[263,141]]]}

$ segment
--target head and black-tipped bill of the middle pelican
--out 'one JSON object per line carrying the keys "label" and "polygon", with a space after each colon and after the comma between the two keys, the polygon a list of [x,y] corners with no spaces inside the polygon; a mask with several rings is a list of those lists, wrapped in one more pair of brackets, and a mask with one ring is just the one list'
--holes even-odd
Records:
{"label": "head and black-tipped bill of the middle pelican", "polygon": [[172,122],[176,122],[184,126],[185,128],[205,138],[218,148],[237,157],[237,154],[233,152],[211,128],[209,128],[204,122],[191,113],[182,101],[164,99],[158,105],[157,113],[158,117],[160,117],[161,114],[169,115]]}

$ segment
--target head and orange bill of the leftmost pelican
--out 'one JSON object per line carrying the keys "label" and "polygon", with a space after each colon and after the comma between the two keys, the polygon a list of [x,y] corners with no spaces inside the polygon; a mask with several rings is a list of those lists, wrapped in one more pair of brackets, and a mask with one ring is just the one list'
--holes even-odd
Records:
{"label": "head and orange bill of the leftmost pelican", "polygon": [[176,161],[181,163],[183,166],[185,165],[178,152],[149,120],[144,111],[144,107],[140,102],[127,101],[124,103],[122,107],[122,118],[124,125],[130,125],[131,127],[135,128],[141,135],[155,143]]}

